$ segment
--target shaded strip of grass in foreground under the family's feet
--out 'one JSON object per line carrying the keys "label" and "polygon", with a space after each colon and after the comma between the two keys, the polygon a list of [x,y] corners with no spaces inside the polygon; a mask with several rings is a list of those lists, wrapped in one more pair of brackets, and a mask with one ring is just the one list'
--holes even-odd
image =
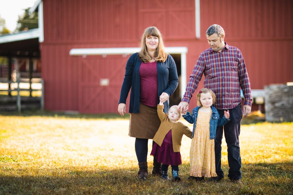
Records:
{"label": "shaded strip of grass in foreground under the family's feet", "polygon": [[[0,176],[1,194],[290,194],[293,162],[244,164],[242,184],[227,177],[221,182],[189,181],[189,164],[179,166],[181,181],[163,181],[151,175],[137,179],[138,168],[67,167],[17,170]],[[3,168],[1,168],[3,170]],[[228,166],[223,170],[227,175]],[[16,170],[13,170],[16,171]],[[171,170],[168,170],[171,176]],[[35,174],[35,176],[30,176]],[[45,174],[45,175],[44,175]]]}

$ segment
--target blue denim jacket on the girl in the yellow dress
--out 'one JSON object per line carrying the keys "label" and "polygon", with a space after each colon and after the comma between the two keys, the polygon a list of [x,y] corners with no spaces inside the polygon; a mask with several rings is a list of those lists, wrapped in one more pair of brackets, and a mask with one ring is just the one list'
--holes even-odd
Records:
{"label": "blue denim jacket on the girl in the yellow dress", "polygon": [[[211,108],[212,108],[212,116],[211,116],[211,120],[209,121],[209,139],[215,139],[217,127],[224,126],[230,119],[227,119],[225,116],[220,118],[220,115],[217,109],[214,106],[212,106]],[[189,112],[187,112],[186,115],[183,115],[183,118],[187,122],[193,124],[193,131],[192,131],[191,138],[193,138],[193,134],[194,134],[195,126],[196,126],[197,114],[199,109],[200,109],[200,106],[197,106],[193,109],[191,115]]]}

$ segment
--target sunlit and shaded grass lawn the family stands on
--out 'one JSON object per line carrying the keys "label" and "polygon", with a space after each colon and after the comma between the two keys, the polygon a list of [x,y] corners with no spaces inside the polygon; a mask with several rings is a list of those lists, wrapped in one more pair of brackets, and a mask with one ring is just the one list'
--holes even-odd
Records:
{"label": "sunlit and shaded grass lawn the family stands on", "polygon": [[[188,181],[191,139],[183,137],[175,183],[151,174],[137,180],[128,119],[0,115],[0,194],[293,194],[293,122],[241,126],[242,184],[226,177],[224,138],[224,180]],[[148,162],[151,173],[152,156]]]}

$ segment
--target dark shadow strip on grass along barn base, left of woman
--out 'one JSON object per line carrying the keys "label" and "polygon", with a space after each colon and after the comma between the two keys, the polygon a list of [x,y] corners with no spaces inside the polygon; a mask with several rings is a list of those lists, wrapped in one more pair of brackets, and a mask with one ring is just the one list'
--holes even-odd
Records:
{"label": "dark shadow strip on grass along barn base, left of woman", "polygon": [[85,119],[129,119],[129,113],[126,113],[123,117],[120,114],[105,113],[105,114],[78,114],[78,113],[67,113],[67,112],[52,112],[52,111],[22,111],[18,113],[16,111],[11,112],[0,112],[2,116],[40,116],[40,117],[60,117],[60,118],[85,118]]}

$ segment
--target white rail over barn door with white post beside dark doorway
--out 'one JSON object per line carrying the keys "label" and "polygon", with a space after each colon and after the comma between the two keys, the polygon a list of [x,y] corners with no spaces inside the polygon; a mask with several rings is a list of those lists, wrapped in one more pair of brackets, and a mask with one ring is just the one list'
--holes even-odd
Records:
{"label": "white rail over barn door with white post beside dark doorway", "polygon": [[[181,99],[185,93],[186,88],[186,53],[187,47],[166,47],[168,54],[181,54]],[[139,52],[139,47],[124,47],[124,48],[76,48],[69,51],[71,56],[87,56],[87,55],[125,55]]]}

